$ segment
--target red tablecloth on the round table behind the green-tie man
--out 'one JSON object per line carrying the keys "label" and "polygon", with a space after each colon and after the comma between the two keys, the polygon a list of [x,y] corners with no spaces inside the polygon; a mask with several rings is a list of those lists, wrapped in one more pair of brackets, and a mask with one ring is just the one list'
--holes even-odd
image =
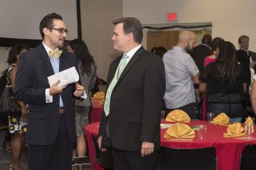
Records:
{"label": "red tablecloth on the round table behind the green-tie man", "polygon": [[[218,170],[238,170],[240,154],[247,144],[256,144],[256,133],[252,137],[225,138],[223,132],[227,131],[227,126],[212,125],[207,121],[193,120],[188,125],[207,125],[206,138],[203,140],[195,137],[193,140],[170,140],[164,138],[164,132],[161,130],[161,146],[173,148],[203,148],[215,147],[218,159]],[[85,128],[85,135],[89,147],[90,161],[92,169],[95,169],[95,149],[92,135],[97,135],[99,123],[92,123]],[[97,167],[96,169],[103,169]]]}

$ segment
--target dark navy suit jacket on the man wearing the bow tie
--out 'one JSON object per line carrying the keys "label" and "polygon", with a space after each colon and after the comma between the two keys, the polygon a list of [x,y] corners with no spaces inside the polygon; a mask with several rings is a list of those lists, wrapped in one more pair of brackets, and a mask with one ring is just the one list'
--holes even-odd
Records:
{"label": "dark navy suit jacket on the man wearing the bow tie", "polygon": [[[75,66],[76,57],[67,51],[60,55],[60,72]],[[79,73],[79,71],[78,71]],[[21,55],[16,74],[16,99],[28,103],[28,132],[26,141],[33,145],[51,145],[58,135],[59,98],[53,96],[53,103],[46,103],[48,79],[53,75],[53,67],[43,44]],[[61,93],[65,108],[68,132],[75,142],[75,111],[73,101],[75,85],[69,84]]]}

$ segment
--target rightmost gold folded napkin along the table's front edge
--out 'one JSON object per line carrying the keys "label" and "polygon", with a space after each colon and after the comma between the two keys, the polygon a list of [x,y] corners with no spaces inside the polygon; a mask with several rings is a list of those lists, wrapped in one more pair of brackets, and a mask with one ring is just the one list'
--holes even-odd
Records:
{"label": "rightmost gold folded napkin along the table's front edge", "polygon": [[241,123],[233,123],[233,125],[228,125],[227,131],[227,133],[223,133],[223,137],[242,137],[246,135],[246,133],[243,132],[244,128],[242,128]]}

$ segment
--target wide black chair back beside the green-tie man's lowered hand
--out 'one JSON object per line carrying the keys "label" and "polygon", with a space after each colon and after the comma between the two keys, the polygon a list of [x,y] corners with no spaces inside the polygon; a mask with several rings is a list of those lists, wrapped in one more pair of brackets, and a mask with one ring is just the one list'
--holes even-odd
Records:
{"label": "wide black chair back beside the green-tie man's lowered hand", "polygon": [[174,149],[161,147],[157,170],[216,170],[214,147],[203,149]]}

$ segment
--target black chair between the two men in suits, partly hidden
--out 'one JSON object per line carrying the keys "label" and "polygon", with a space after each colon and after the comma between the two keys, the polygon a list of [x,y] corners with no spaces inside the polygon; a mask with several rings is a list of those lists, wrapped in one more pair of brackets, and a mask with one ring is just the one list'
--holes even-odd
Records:
{"label": "black chair between the two men in suits, partly hidden", "polygon": [[107,149],[107,151],[102,152],[97,145],[97,137],[92,135],[92,139],[95,146],[95,162],[106,169],[114,169],[111,149]]}

